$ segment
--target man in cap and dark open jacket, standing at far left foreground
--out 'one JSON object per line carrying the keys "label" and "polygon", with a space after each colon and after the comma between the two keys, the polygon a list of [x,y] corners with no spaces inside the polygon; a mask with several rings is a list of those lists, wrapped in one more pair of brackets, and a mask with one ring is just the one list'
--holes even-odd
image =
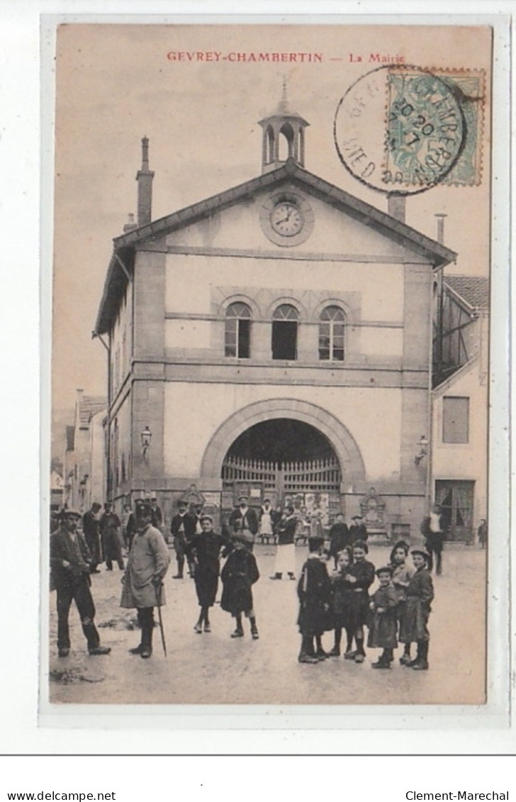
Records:
{"label": "man in cap and dark open jacket, standing at far left foreground", "polygon": [[100,646],[95,627],[95,604],[91,597],[91,554],[84,537],[77,527],[80,512],[65,509],[60,516],[59,528],[50,535],[50,581],[57,591],[58,610],[58,654],[70,654],[70,629],[68,616],[71,602],[75,601],[83,633],[90,654],[109,654],[108,646]]}

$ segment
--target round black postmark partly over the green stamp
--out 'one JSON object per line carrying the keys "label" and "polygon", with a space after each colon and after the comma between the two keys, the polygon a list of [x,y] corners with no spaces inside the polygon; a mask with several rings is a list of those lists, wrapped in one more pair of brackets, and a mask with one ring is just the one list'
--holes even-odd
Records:
{"label": "round black postmark partly over the green stamp", "polygon": [[378,192],[413,195],[440,184],[466,142],[453,85],[405,64],[377,67],[342,96],[333,139],[345,168]]}

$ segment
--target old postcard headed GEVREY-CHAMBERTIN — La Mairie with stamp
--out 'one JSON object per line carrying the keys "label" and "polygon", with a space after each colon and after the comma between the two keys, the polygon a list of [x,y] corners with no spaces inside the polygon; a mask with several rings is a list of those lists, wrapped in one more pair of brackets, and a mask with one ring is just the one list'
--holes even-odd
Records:
{"label": "old postcard headed GEVREY-CHAMBERTIN \u2014 La Mairie with stamp", "polygon": [[493,30],[55,55],[43,696],[485,705]]}

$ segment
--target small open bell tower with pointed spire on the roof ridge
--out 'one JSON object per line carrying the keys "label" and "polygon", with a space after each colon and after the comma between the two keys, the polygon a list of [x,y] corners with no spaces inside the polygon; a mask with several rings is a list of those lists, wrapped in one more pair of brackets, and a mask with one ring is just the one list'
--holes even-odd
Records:
{"label": "small open bell tower with pointed spire on the roof ridge", "polygon": [[285,79],[276,111],[260,119],[260,125],[263,131],[261,172],[274,170],[288,159],[304,167],[304,129],[309,123],[288,108]]}

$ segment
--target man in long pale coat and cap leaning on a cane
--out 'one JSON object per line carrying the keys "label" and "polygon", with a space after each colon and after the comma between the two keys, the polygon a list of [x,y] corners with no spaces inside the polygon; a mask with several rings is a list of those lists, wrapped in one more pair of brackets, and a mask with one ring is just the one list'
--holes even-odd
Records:
{"label": "man in long pale coat and cap leaning on a cane", "polygon": [[131,654],[150,658],[152,654],[152,633],[154,630],[154,608],[165,602],[163,577],[170,563],[167,544],[163,535],[152,526],[152,508],[146,501],[136,507],[138,527],[123,575],[121,607],[135,607],[141,629],[139,646],[131,649]]}

